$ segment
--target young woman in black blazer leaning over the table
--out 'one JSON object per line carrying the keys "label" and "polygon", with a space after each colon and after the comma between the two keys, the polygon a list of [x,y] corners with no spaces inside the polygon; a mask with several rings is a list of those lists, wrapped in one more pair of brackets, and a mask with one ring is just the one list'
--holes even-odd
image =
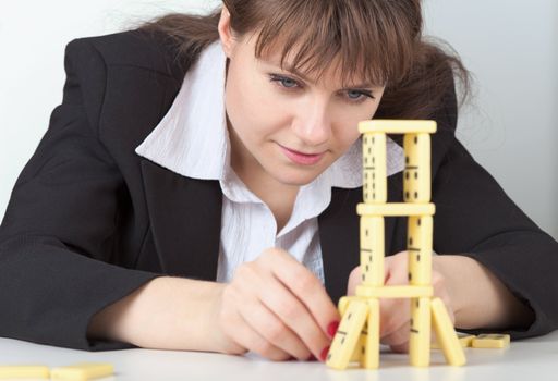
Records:
{"label": "young woman in black blazer leaning over the table", "polygon": [[[359,121],[435,119],[435,294],[464,330],[558,327],[558,244],[454,137],[459,60],[418,0],[225,0],[66,48],[0,229],[0,335],[324,359],[360,279]],[[402,149],[388,149],[401,200]],[[407,282],[386,223],[386,282]],[[381,340],[407,351],[405,300]]]}

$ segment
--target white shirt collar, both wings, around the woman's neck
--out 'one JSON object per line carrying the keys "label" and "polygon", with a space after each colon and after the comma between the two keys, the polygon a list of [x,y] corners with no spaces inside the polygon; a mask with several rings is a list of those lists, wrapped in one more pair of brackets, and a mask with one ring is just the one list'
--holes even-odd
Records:
{"label": "white shirt collar, both wings, around the woman's neck", "polygon": [[[225,180],[230,171],[230,140],[225,111],[227,57],[219,41],[201,54],[185,75],[168,113],[136,148],[136,153],[183,176]],[[403,149],[388,138],[387,174],[404,168]],[[308,188],[362,186],[362,143],[322,173]],[[316,190],[316,189],[315,189]]]}

